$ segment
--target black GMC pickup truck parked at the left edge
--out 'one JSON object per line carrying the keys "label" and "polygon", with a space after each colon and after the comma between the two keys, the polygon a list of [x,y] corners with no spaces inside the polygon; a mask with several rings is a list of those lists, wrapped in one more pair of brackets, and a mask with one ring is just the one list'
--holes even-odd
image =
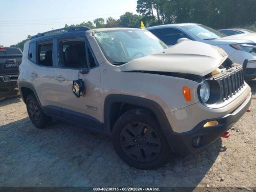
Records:
{"label": "black GMC pickup truck parked at the left edge", "polygon": [[0,88],[17,86],[22,51],[15,47],[0,47]]}

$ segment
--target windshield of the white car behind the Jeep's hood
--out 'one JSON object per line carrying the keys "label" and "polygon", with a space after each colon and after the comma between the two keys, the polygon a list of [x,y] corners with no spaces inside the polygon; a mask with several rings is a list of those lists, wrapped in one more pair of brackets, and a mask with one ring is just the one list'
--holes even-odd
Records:
{"label": "windshield of the white car behind the Jeep's hood", "polygon": [[204,25],[185,25],[182,27],[188,30],[189,32],[191,32],[192,34],[196,35],[198,38],[204,39],[204,40],[225,37],[223,34],[216,31],[215,29],[206,27]]}

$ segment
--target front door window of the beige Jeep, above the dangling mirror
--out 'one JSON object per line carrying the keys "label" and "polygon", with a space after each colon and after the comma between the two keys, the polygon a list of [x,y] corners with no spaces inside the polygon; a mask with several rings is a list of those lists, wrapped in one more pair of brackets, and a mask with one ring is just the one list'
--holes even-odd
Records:
{"label": "front door window of the beige Jeep, above the dangling mirror", "polygon": [[62,66],[66,68],[92,68],[96,66],[92,52],[83,40],[61,41],[60,56]]}

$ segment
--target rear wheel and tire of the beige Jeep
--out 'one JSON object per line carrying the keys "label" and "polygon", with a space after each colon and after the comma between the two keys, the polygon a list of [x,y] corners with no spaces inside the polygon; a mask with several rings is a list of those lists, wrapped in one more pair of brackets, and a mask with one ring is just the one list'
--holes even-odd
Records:
{"label": "rear wheel and tire of the beige Jeep", "polygon": [[48,123],[52,121],[51,117],[48,117],[46,116],[46,114],[44,114],[34,94],[30,94],[27,97],[26,106],[27,106],[28,116],[31,122],[37,128],[44,128]]}

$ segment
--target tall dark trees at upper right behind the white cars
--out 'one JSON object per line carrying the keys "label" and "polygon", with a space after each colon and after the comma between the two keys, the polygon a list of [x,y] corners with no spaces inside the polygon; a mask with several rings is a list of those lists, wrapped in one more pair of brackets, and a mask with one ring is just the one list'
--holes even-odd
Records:
{"label": "tall dark trees at upper right behind the white cars", "polygon": [[137,12],[149,25],[200,23],[215,29],[256,22],[256,0],[138,0]]}

